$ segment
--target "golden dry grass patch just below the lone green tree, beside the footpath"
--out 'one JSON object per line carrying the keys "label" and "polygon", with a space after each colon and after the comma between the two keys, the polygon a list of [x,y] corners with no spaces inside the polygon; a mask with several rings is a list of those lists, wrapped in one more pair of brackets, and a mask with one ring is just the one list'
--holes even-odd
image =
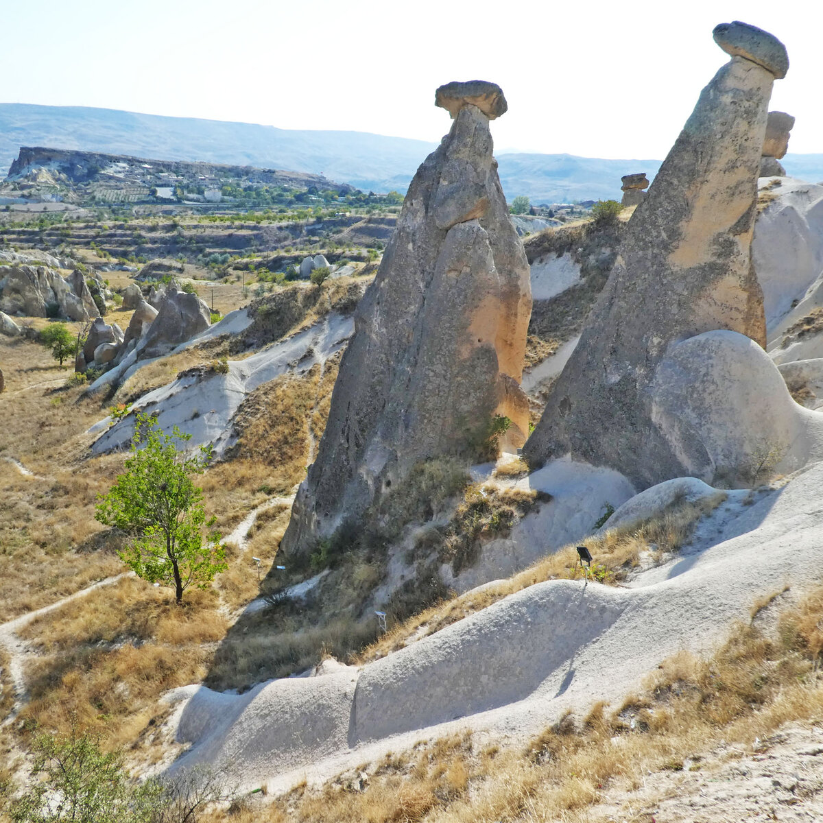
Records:
{"label": "golden dry grass patch just below the lone green tree, beside the footpath", "polygon": [[178,607],[168,589],[138,579],[100,588],[20,631],[39,653],[26,667],[21,719],[62,734],[77,718],[109,746],[131,743],[161,711],[162,692],[202,678],[225,633],[214,591],[194,590]]}

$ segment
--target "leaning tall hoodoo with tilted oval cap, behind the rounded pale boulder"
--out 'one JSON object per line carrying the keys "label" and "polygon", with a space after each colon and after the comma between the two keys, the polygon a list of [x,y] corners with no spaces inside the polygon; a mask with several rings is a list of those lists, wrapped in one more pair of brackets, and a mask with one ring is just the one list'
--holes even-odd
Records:
{"label": "leaning tall hoodoo with tilted oval cap, behind the rounded pale boulder", "polygon": [[772,83],[788,57],[773,35],[741,22],[717,26],[714,40],[732,59],[704,88],[630,220],[523,450],[532,467],[570,453],[641,488],[690,473],[653,421],[652,384],[667,347],[716,329],[765,345],[750,245]]}

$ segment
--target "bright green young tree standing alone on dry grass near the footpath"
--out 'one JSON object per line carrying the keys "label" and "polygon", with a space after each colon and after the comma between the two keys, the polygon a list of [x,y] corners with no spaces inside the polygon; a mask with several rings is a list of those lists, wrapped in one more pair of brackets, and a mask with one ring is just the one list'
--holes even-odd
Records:
{"label": "bright green young tree standing alone on dry grass near the footpath", "polygon": [[174,586],[178,603],[190,585],[207,588],[227,568],[220,535],[203,541],[203,527],[215,518],[207,521],[202,489],[191,478],[207,467],[212,448],[201,446],[194,455],[180,449],[191,436],[176,425],[166,435],[156,415],[138,414],[126,472],[100,495],[95,511],[100,523],[132,537],[120,553],[123,562],[150,583]]}

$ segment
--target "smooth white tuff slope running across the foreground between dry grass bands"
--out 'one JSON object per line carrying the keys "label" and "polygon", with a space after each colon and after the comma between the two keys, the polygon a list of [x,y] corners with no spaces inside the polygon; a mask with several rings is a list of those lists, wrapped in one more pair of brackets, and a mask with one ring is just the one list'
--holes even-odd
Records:
{"label": "smooth white tuff slope running across the foreground between dry grass bands", "polygon": [[708,649],[756,597],[811,582],[823,563],[821,492],[818,464],[751,505],[732,500],[631,588],[549,581],[360,669],[244,695],[181,690],[179,739],[193,747],[179,765],[273,787],[458,728],[523,737],[564,709],[616,700],[667,655]]}

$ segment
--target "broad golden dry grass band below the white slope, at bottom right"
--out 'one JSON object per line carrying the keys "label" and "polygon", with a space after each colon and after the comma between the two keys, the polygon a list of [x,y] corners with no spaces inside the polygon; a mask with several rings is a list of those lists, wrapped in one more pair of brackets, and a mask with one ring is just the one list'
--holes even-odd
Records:
{"label": "broad golden dry grass band below the white slope, at bottom right", "polygon": [[614,709],[599,701],[579,718],[566,713],[524,748],[483,746],[470,734],[420,742],[321,788],[304,783],[209,821],[605,820],[609,809],[598,803],[612,789],[631,792],[649,773],[681,770],[721,743],[768,746],[784,723],[823,718],[821,623],[817,588],[783,612],[778,636],[738,624],[710,658],[678,653],[639,694]]}

